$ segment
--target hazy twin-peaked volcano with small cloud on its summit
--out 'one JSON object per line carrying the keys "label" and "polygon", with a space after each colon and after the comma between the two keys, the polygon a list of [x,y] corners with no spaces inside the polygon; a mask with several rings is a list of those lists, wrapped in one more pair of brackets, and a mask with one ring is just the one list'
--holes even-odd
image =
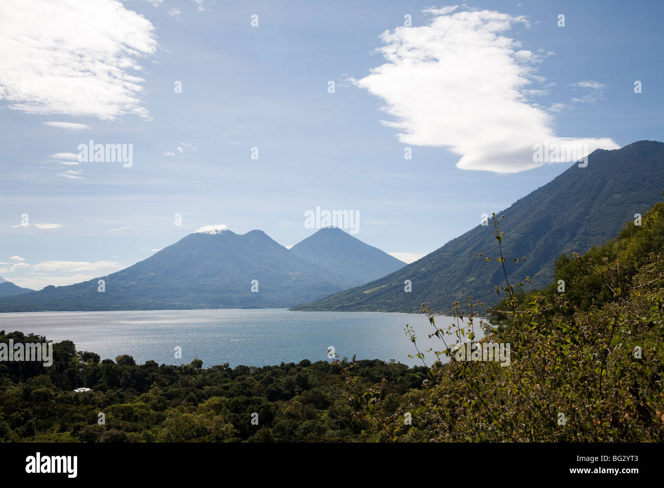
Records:
{"label": "hazy twin-peaked volcano with small cloud on its summit", "polygon": [[[98,291],[104,280],[106,291]],[[252,280],[258,292],[252,292]],[[256,289],[254,287],[254,289]],[[122,271],[0,299],[0,311],[289,307],[343,289],[262,230],[189,234]]]}

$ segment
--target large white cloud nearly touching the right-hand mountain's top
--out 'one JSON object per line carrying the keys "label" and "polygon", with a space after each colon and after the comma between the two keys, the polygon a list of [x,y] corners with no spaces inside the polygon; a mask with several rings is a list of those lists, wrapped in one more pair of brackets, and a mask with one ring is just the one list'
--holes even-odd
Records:
{"label": "large white cloud nearly touching the right-hand mountain's top", "polygon": [[[544,82],[533,67],[542,54],[505,36],[525,17],[456,7],[429,9],[423,27],[380,35],[385,64],[352,80],[385,102],[383,121],[408,145],[441,146],[460,156],[460,169],[517,173],[538,167],[533,145],[617,149],[608,138],[558,137],[552,114],[529,102],[526,88]],[[451,14],[450,14],[451,13]],[[561,151],[566,153],[567,151]]]}

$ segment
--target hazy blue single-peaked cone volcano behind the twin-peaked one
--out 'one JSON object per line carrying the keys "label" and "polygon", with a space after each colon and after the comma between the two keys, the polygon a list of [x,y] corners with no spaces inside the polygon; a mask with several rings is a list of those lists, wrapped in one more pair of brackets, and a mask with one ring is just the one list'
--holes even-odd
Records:
{"label": "hazy blue single-peaked cone volcano behind the twin-peaked one", "polygon": [[291,252],[338,277],[347,288],[370,282],[406,266],[337,227],[321,228]]}

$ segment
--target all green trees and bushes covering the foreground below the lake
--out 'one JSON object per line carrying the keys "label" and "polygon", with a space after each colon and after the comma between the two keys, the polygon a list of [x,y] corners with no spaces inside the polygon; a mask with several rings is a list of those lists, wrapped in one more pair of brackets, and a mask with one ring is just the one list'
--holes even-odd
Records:
{"label": "all green trees and bushes covering the foreground below the lake", "polygon": [[[478,254],[503,272],[509,219]],[[664,441],[664,203],[583,256],[562,255],[554,281],[496,287],[484,304],[454,304],[429,337],[404,324],[422,366],[383,361],[136,365],[74,343],[54,363],[0,364],[4,442],[648,442]],[[489,325],[491,323],[491,325]],[[477,339],[479,329],[485,333]],[[0,332],[0,342],[45,337]],[[375,338],[380,341],[380,337]],[[509,345],[509,366],[463,361],[456,343]],[[432,344],[434,344],[432,346]],[[91,392],[74,392],[86,386]]]}

